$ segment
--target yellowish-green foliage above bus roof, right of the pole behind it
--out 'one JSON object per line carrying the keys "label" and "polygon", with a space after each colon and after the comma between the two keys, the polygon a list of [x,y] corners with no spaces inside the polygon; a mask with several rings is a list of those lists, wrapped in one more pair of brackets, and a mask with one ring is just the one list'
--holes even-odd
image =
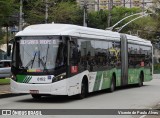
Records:
{"label": "yellowish-green foliage above bus roof, right of the pole behind it", "polygon": [[50,22],[82,25],[82,10],[72,2],[61,2],[50,9]]}

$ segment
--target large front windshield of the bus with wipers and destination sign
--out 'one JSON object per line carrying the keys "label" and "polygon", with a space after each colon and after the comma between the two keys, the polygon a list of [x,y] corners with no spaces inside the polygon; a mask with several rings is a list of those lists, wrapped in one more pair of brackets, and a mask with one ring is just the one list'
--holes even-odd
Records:
{"label": "large front windshield of the bus with wipers and destination sign", "polygon": [[[66,62],[66,44],[59,37],[20,37],[15,42],[13,66],[27,72],[44,72]],[[16,56],[17,55],[17,56]]]}

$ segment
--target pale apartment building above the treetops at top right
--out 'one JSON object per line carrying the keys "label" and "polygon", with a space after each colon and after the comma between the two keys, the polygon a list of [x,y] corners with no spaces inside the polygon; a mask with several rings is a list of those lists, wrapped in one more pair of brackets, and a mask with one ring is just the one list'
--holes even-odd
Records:
{"label": "pale apartment building above the treetops at top right", "polygon": [[147,9],[152,5],[152,0],[77,0],[77,3],[83,7],[87,5],[88,11],[105,10],[113,6],[125,6],[127,8],[140,7]]}

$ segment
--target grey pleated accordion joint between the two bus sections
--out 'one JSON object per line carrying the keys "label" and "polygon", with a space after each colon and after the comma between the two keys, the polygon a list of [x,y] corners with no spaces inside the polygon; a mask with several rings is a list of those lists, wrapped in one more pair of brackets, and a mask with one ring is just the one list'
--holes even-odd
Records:
{"label": "grey pleated accordion joint between the two bus sections", "polygon": [[128,84],[128,45],[127,37],[125,34],[121,34],[121,85]]}

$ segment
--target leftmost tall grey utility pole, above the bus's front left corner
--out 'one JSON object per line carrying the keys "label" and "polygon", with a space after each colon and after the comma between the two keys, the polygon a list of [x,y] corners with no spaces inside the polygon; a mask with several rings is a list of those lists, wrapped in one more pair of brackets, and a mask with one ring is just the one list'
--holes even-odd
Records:
{"label": "leftmost tall grey utility pole, above the bus's front left corner", "polygon": [[23,15],[23,12],[22,12],[22,9],[23,9],[23,0],[20,0],[20,9],[19,9],[19,31],[22,30],[22,25],[23,25],[23,18],[22,18],[22,15]]}

